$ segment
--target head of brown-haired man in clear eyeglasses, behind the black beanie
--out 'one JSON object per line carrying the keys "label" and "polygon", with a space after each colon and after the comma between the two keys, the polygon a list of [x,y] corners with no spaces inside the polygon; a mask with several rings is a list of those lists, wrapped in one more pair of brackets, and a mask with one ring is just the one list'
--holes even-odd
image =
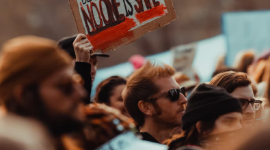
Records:
{"label": "head of brown-haired man in clear eyeglasses, behind the black beanie", "polygon": [[243,128],[250,129],[254,123],[255,112],[262,104],[262,101],[256,100],[257,89],[252,79],[243,72],[230,71],[217,74],[209,84],[223,87],[239,99],[243,108]]}

